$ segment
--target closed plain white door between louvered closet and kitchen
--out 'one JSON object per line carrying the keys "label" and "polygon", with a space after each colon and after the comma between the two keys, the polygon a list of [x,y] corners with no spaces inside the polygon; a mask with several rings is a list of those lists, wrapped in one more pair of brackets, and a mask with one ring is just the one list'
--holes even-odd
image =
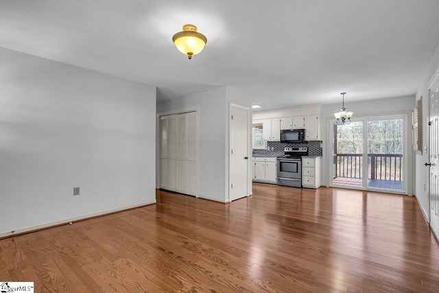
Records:
{"label": "closed plain white door between louvered closet and kitchen", "polygon": [[248,116],[248,108],[230,105],[230,201],[248,196]]}

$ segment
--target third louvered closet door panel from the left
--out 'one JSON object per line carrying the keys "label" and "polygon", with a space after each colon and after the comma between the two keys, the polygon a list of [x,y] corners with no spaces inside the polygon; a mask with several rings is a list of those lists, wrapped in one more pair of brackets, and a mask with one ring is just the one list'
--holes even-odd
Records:
{"label": "third louvered closet door panel from the left", "polygon": [[187,193],[187,114],[178,115],[177,192]]}

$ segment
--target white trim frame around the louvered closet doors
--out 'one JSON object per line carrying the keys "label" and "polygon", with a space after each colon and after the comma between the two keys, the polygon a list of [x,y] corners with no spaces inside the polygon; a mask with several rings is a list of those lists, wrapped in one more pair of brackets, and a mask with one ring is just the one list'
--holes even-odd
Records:
{"label": "white trim frame around the louvered closet doors", "polygon": [[160,120],[163,116],[195,113],[196,117],[196,191],[191,193],[198,198],[200,196],[200,107],[182,108],[156,114],[156,189],[160,189],[161,180],[161,128]]}

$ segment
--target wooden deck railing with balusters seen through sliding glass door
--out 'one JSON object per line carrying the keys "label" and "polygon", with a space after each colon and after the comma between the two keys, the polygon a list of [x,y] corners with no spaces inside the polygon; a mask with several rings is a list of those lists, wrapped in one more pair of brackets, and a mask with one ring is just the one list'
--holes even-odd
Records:
{"label": "wooden deck railing with balusters seen through sliding glass door", "polygon": [[[335,154],[335,177],[362,178],[362,154]],[[368,179],[402,180],[402,154],[368,154]]]}

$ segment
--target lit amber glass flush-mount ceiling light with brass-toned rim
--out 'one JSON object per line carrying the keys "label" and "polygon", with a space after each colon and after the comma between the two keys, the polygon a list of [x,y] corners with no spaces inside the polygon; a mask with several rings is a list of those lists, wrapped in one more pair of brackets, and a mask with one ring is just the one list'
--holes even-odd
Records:
{"label": "lit amber glass flush-mount ceiling light with brass-toned rim", "polygon": [[174,34],[172,41],[178,51],[191,59],[193,55],[200,53],[204,49],[207,38],[204,34],[197,32],[195,25],[183,25],[183,31]]}

